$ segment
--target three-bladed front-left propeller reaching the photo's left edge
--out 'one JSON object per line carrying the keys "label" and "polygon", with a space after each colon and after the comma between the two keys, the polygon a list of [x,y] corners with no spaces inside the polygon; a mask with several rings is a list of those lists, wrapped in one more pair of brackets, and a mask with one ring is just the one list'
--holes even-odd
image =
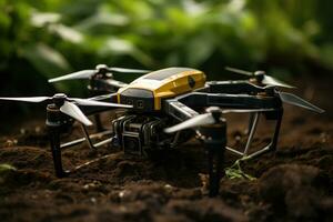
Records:
{"label": "three-bladed front-left propeller reaching the photo's left edge", "polygon": [[[100,102],[89,99],[80,99],[80,98],[68,98],[63,93],[54,94],[53,97],[31,97],[31,98],[0,98],[0,100],[9,100],[9,101],[21,101],[21,102],[53,102],[59,107],[59,110],[82,122],[85,125],[92,125],[92,122],[85,117],[85,114],[80,110],[78,105],[84,107],[111,107],[111,108],[133,108],[133,105],[129,104],[118,104],[118,103],[109,103],[109,102]],[[77,105],[78,104],[78,105]]]}

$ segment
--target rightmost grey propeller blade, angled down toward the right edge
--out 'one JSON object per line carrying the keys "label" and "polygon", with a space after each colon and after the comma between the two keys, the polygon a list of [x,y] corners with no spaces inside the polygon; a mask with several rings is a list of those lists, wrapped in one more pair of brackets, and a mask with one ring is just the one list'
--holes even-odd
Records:
{"label": "rightmost grey propeller blade, angled down toward the right edge", "polygon": [[300,108],[304,108],[317,113],[323,113],[325,112],[323,109],[315,107],[314,104],[311,104],[310,102],[303,100],[302,98],[292,94],[292,93],[287,93],[287,92],[279,92],[280,98],[283,102],[292,104],[292,105],[296,105]]}

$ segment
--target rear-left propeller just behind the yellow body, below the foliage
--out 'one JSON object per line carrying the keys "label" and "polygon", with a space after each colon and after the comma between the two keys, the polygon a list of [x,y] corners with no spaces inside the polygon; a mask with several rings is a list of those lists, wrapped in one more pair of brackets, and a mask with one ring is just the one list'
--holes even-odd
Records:
{"label": "rear-left propeller just behind the yellow body, below the foliage", "polygon": [[148,73],[150,72],[150,70],[127,69],[127,68],[108,67],[107,64],[98,64],[94,70],[81,70],[70,74],[50,79],[49,82],[59,82],[63,80],[74,80],[74,79],[89,79],[95,74],[107,74],[109,72]]}

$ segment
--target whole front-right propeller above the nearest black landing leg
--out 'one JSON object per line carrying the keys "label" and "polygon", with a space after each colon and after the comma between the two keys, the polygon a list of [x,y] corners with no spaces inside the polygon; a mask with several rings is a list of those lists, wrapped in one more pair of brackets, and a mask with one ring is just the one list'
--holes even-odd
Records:
{"label": "whole front-right propeller above the nearest black landing leg", "polygon": [[249,113],[249,112],[268,112],[273,111],[274,109],[230,109],[230,110],[221,110],[216,107],[211,107],[206,109],[208,113],[195,115],[184,122],[175,124],[171,128],[164,129],[167,133],[173,133],[180,130],[185,130],[190,128],[196,128],[200,125],[214,124],[220,121],[221,114],[226,113]]}

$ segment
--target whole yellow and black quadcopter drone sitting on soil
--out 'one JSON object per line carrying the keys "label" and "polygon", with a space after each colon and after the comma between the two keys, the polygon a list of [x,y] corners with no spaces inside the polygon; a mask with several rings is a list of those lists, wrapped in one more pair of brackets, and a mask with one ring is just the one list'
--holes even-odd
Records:
{"label": "whole yellow and black quadcopter drone sitting on soil", "polygon": [[[219,193],[224,152],[230,151],[242,160],[258,158],[275,151],[283,117],[283,103],[289,103],[313,112],[324,110],[302,98],[283,92],[281,88],[293,88],[264,71],[248,72],[234,68],[226,70],[249,75],[249,80],[206,81],[204,72],[183,67],[172,67],[157,71],[113,68],[99,64],[92,70],[82,70],[49,80],[88,79],[88,89],[93,97],[70,98],[63,93],[53,97],[0,98],[0,100],[47,103],[47,128],[56,175],[65,176],[82,167],[64,169],[61,152],[64,149],[87,142],[91,149],[110,144],[125,154],[145,155],[159,150],[180,147],[196,138],[203,143],[208,157],[209,195]],[[113,73],[143,74],[124,83],[114,79]],[[121,117],[112,120],[111,129],[103,129],[99,114],[122,109]],[[245,147],[240,149],[226,144],[226,113],[249,113],[249,132]],[[92,125],[88,115],[94,115],[98,132],[89,134]],[[274,133],[264,147],[250,149],[259,119],[275,122]],[[74,121],[82,125],[83,138],[61,143],[61,135],[72,128]],[[93,139],[107,137],[93,143]],[[93,162],[94,160],[90,161]],[[95,160],[98,161],[98,160]]]}

